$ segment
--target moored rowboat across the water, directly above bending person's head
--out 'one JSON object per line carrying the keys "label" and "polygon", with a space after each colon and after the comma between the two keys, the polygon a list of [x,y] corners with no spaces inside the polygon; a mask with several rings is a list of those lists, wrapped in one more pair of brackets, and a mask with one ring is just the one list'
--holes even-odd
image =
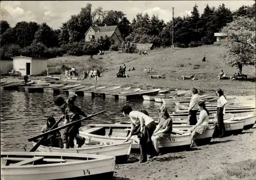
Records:
{"label": "moored rowboat across the water, directly above bending person's head", "polygon": [[156,95],[161,89],[147,89],[133,93],[118,94],[118,99],[143,99],[143,95]]}

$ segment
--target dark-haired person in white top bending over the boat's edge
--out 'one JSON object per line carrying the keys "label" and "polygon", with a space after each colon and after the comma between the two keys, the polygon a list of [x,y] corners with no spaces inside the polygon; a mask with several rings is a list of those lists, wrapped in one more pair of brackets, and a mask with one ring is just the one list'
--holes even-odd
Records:
{"label": "dark-haired person in white top bending over the boat's edge", "polygon": [[124,117],[130,118],[132,129],[124,142],[129,141],[133,135],[138,135],[140,138],[140,163],[147,161],[147,151],[149,151],[151,155],[150,159],[157,156],[158,153],[156,152],[156,149],[151,141],[152,134],[156,129],[155,121],[144,113],[133,110],[129,105],[124,105],[121,112]]}

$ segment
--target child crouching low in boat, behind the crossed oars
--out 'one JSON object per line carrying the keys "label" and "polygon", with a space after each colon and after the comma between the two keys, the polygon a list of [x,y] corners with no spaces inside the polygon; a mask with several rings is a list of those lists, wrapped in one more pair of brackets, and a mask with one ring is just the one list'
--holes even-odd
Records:
{"label": "child crouching low in boat, behind the crossed oars", "polygon": [[[45,133],[49,131],[49,129],[52,128],[55,123],[56,121],[53,118],[53,116],[48,117],[46,124],[41,129],[41,133]],[[57,127],[58,125],[56,125],[54,128],[57,128]],[[63,148],[60,132],[56,131],[56,132],[50,133],[48,137],[45,139],[45,141],[42,143],[42,145]]]}

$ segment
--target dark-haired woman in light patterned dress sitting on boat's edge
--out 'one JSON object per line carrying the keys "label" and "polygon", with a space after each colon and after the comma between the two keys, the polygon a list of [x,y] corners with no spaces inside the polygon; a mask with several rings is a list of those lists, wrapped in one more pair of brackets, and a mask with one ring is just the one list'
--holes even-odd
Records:
{"label": "dark-haired woman in light patterned dress sitting on boat's edge", "polygon": [[191,127],[190,131],[191,131],[191,145],[190,147],[195,147],[196,143],[195,143],[195,136],[197,134],[203,134],[207,129],[209,129],[208,127],[208,123],[209,123],[209,111],[206,109],[205,107],[205,103],[203,101],[198,103],[199,109],[200,109],[200,115],[199,115],[199,120],[197,122],[197,124],[193,127]]}

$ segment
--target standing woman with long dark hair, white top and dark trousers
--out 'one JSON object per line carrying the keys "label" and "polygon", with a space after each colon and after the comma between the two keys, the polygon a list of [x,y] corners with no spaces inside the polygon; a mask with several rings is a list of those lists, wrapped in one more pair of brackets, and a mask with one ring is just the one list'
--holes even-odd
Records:
{"label": "standing woman with long dark hair, white top and dark trousers", "polygon": [[223,116],[225,115],[225,105],[227,104],[227,99],[224,96],[223,91],[221,89],[218,89],[216,91],[216,95],[219,97],[219,99],[217,100],[217,119],[220,132],[219,138],[222,138],[225,132]]}

